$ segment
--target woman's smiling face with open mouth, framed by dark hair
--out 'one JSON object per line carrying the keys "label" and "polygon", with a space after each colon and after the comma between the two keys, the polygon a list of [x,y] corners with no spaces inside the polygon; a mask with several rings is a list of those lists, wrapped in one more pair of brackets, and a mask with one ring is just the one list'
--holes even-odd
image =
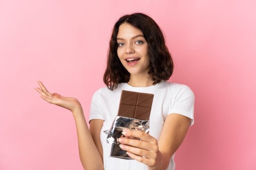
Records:
{"label": "woman's smiling face with open mouth, framed by dark hair", "polygon": [[117,44],[117,55],[131,76],[144,74],[148,76],[148,43],[143,33],[130,24],[121,24],[117,34]]}

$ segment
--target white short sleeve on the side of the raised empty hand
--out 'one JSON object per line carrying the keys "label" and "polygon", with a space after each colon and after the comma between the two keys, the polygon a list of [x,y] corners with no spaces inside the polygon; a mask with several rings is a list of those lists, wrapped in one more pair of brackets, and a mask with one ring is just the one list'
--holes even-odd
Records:
{"label": "white short sleeve on the side of the raised empty hand", "polygon": [[89,122],[90,120],[93,120],[93,119],[104,120],[103,111],[102,111],[101,89],[95,92],[92,96]]}

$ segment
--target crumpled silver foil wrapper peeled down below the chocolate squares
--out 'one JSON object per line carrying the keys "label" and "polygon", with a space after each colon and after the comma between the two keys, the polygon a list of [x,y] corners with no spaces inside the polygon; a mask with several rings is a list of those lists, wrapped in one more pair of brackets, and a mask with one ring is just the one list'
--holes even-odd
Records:
{"label": "crumpled silver foil wrapper peeled down below the chocolate squares", "polygon": [[[125,150],[122,150],[119,145],[118,139],[120,137],[126,137],[122,134],[123,130],[127,128],[132,131],[143,131],[145,133],[149,132],[149,120],[138,120],[135,118],[127,118],[123,116],[117,116],[113,121],[111,129],[109,131],[104,131],[108,134],[107,142],[112,144],[112,149],[110,157],[118,157],[122,159],[132,159],[130,158]],[[137,138],[134,138],[137,139]],[[140,139],[138,139],[140,140]]]}

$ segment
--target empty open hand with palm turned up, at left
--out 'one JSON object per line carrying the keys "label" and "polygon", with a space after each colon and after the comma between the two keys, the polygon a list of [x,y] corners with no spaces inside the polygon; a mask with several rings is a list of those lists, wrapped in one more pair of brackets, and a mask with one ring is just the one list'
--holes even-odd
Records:
{"label": "empty open hand with palm turned up, at left", "polygon": [[38,81],[40,88],[35,88],[38,93],[41,94],[41,98],[45,101],[52,103],[54,105],[58,105],[65,109],[68,109],[74,112],[76,109],[81,109],[81,104],[76,98],[72,97],[63,97],[57,93],[49,93],[42,82]]}

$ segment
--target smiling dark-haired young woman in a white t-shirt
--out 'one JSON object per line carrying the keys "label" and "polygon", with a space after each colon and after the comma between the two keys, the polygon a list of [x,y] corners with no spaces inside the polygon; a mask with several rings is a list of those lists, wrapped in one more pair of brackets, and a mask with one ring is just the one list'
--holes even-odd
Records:
{"label": "smiling dark-haired young woman in a white t-shirt", "polygon": [[[51,94],[38,82],[36,90],[49,103],[72,111],[76,122],[79,155],[86,170],[174,170],[175,151],[193,124],[194,95],[189,87],[167,82],[173,61],[155,21],[142,13],[124,15],[115,24],[103,87],[94,93],[90,130],[80,102]],[[129,131],[120,148],[134,160],[109,157],[111,144],[103,132],[117,116],[121,91],[154,94],[150,132]]]}

